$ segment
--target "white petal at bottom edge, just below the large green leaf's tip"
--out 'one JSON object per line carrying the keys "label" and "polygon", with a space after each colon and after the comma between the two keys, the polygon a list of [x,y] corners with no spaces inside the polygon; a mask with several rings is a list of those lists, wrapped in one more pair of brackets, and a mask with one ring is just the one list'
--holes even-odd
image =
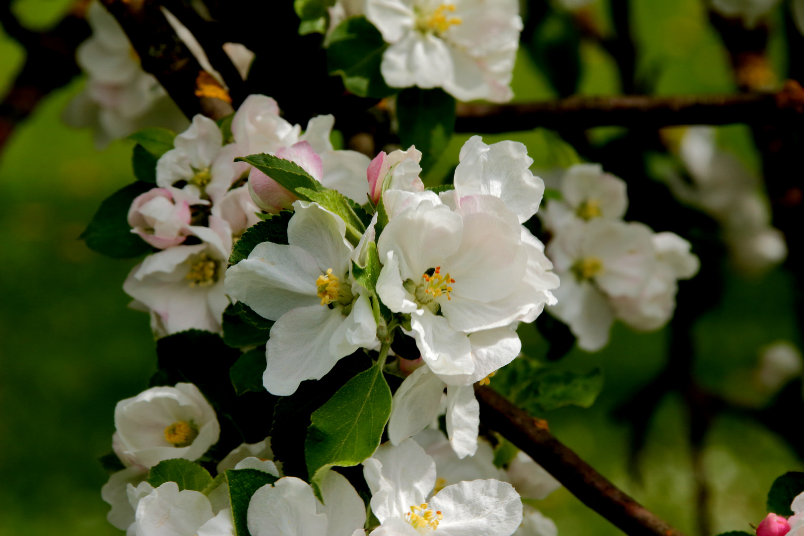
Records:
{"label": "white petal at bottom edge, just below the large green leaf's tip", "polygon": [[318,513],[326,513],[326,536],[351,536],[366,522],[366,505],[355,488],[336,471],[329,471],[321,485],[324,504]]}

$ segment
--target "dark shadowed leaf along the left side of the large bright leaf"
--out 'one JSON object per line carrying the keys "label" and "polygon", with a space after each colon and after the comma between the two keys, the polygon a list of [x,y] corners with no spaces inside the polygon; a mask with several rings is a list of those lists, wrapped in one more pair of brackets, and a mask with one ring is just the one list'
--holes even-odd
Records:
{"label": "dark shadowed leaf along the left side of the large bright leaf", "polygon": [[320,380],[301,382],[293,395],[283,396],[273,411],[271,449],[282,462],[286,476],[307,480],[305,440],[310,415],[355,374],[371,366],[371,359],[362,351],[341,359]]}

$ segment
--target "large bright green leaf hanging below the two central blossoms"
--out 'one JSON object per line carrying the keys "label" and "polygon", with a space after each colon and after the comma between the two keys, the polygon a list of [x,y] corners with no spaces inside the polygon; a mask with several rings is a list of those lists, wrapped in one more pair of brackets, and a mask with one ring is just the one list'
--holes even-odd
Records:
{"label": "large bright green leaf hanging below the two central blossoms", "polygon": [[330,467],[357,465],[374,453],[391,416],[391,401],[381,367],[372,366],[313,412],[305,452],[310,484],[317,495]]}

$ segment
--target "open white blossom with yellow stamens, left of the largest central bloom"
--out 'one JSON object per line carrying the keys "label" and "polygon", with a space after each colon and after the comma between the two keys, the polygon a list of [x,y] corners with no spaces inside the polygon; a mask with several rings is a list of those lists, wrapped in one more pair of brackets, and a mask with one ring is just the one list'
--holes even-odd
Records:
{"label": "open white blossom with yellow stamens, left of the largest central bloom", "polygon": [[288,243],[260,243],[226,272],[229,296],[275,321],[265,346],[265,388],[291,395],[320,379],[338,359],[373,346],[377,325],[368,295],[351,279],[361,248],[346,224],[318,203],[297,201]]}

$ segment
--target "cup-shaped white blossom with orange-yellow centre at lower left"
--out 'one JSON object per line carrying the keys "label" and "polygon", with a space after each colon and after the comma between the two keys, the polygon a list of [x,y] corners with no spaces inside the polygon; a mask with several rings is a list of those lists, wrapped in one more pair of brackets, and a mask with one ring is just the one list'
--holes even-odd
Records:
{"label": "cup-shaped white blossom with orange-yellow centre at lower left", "polygon": [[215,410],[192,383],[151,387],[117,403],[113,449],[124,465],[198,460],[218,441]]}

